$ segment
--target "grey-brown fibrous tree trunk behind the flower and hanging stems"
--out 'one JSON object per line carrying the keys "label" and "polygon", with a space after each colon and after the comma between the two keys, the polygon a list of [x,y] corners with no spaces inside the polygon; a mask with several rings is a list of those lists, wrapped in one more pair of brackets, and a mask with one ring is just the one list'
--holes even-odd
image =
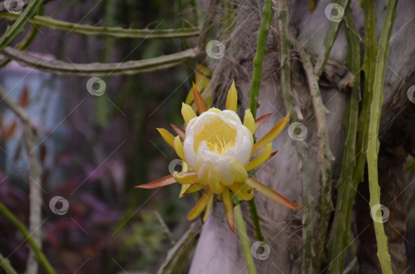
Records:
{"label": "grey-brown fibrous tree trunk behind the flower and hanging stems", "polygon": [[[253,58],[257,44],[257,31],[261,25],[262,4],[257,0],[239,0],[235,4],[235,26],[232,33],[223,34],[217,39],[227,41],[227,48],[223,58],[214,60],[213,90],[214,102],[217,106],[224,105],[225,92],[232,79],[238,89],[240,103],[248,108],[246,92],[251,87]],[[313,13],[309,12],[309,1],[292,0],[290,30],[300,42],[302,49],[308,54],[317,56],[323,44],[324,36],[331,23],[324,13],[325,7],[331,3],[320,0]],[[363,11],[359,7],[360,1],[351,1],[350,8],[360,36],[364,37]],[[223,3],[217,7],[221,10]],[[377,37],[382,31],[383,19],[387,1],[377,1]],[[393,272],[402,273],[407,268],[406,252],[403,238],[406,233],[406,204],[407,192],[405,188],[409,182],[403,176],[403,164],[408,153],[415,152],[415,104],[407,98],[407,90],[415,80],[415,32],[413,25],[413,11],[415,2],[401,0],[397,8],[397,17],[390,39],[390,54],[387,61],[384,85],[384,104],[380,124],[379,138],[381,148],[379,153],[379,184],[381,186],[381,202],[390,210],[390,219],[385,223],[385,231],[389,240],[389,254]],[[413,20],[412,20],[413,19]],[[273,15],[273,26],[276,27],[276,14]],[[356,34],[358,35],[358,34]],[[278,34],[271,30],[267,39],[268,51],[264,57],[262,84],[259,94],[260,107],[257,117],[266,113],[273,113],[269,122],[257,131],[256,136],[263,136],[272,125],[286,115],[280,93],[280,62],[278,50]],[[338,61],[342,69],[346,56],[346,39],[343,30],[340,30],[329,58]],[[364,50],[364,49],[362,49]],[[301,61],[294,51],[291,58],[292,92],[298,100],[294,102],[296,112],[303,115],[300,120],[307,128],[306,164],[310,170],[313,181],[312,202],[303,208],[293,211],[282,207],[261,194],[255,194],[261,229],[266,244],[271,247],[271,253],[265,260],[255,260],[258,273],[300,273],[302,270],[302,212],[305,207],[313,209],[313,223],[318,226],[320,212],[316,207],[321,195],[320,166],[322,156],[318,150],[318,136],[316,113],[313,110],[312,100],[307,85],[307,79],[302,69]],[[333,61],[331,63],[336,64]],[[336,69],[336,66],[334,66]],[[326,70],[329,67],[326,66]],[[330,66],[330,70],[333,67]],[[341,77],[349,77],[341,74]],[[323,78],[323,77],[322,77]],[[331,184],[333,185],[333,201],[336,204],[336,189],[334,188],[342,167],[342,154],[344,147],[343,118],[346,108],[347,88],[341,88],[342,80],[337,79],[332,85],[323,84],[320,79],[320,90],[327,113],[327,127],[329,131],[330,149],[335,160],[331,162]],[[340,86],[339,86],[340,85]],[[298,115],[297,115],[298,117]],[[300,161],[296,143],[284,130],[273,142],[273,150],[279,152],[266,164],[259,168],[256,179],[278,191],[296,204],[302,204],[302,176],[299,169]],[[370,218],[368,204],[367,181],[360,184],[355,204],[355,213],[352,216],[351,246],[358,245],[357,254],[346,250],[345,268],[350,262],[358,262],[360,273],[380,273],[380,264],[376,255],[376,238],[373,220]],[[191,265],[191,274],[196,273],[247,273],[244,257],[238,236],[227,227],[220,204],[214,203],[209,220],[204,224],[196,252]],[[248,218],[247,204],[242,203],[242,211],[247,222],[248,234],[252,243],[257,241],[254,237],[251,219]],[[367,229],[365,229],[365,227]],[[316,235],[315,235],[316,236]],[[357,237],[359,236],[359,237]],[[357,238],[356,240],[354,240]],[[316,239],[318,241],[318,239]],[[258,253],[261,253],[259,250]],[[357,257],[356,258],[354,257]],[[327,256],[326,256],[327,257]],[[326,261],[321,268],[325,272]],[[351,267],[351,266],[350,266]],[[319,271],[320,272],[320,271]]]}

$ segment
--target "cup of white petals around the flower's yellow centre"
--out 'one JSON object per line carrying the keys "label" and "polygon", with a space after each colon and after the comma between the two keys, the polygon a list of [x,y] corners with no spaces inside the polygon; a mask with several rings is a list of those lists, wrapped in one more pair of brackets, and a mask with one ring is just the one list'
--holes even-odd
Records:
{"label": "cup of white petals around the flower's yellow centre", "polygon": [[235,182],[231,163],[238,161],[246,167],[253,146],[251,131],[234,111],[223,110],[218,113],[218,109],[213,109],[189,121],[183,149],[186,162],[198,171],[202,184],[209,185],[209,174],[214,173],[220,184],[230,186]]}

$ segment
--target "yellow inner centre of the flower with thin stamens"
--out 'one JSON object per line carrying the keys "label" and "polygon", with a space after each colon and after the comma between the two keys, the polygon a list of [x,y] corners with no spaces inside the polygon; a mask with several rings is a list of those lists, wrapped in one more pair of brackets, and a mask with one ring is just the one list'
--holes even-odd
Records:
{"label": "yellow inner centre of the flower with thin stamens", "polygon": [[237,131],[219,117],[214,117],[204,125],[203,130],[196,135],[194,149],[197,151],[200,142],[206,141],[206,146],[219,155],[235,146]]}

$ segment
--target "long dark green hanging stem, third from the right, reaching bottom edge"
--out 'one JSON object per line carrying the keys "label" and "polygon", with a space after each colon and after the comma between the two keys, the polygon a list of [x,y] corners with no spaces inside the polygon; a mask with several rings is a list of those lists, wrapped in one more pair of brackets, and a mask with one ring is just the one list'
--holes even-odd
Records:
{"label": "long dark green hanging stem, third from the right, reaching bottom edge", "polygon": [[350,10],[346,11],[343,28],[347,40],[346,63],[353,75],[357,75],[354,86],[347,94],[347,106],[343,124],[345,127],[345,145],[343,152],[342,170],[337,182],[338,198],[336,213],[331,228],[331,237],[328,244],[329,261],[328,273],[342,273],[344,268],[344,250],[348,243],[350,230],[350,215],[355,201],[356,189],[359,181],[355,181],[353,173],[356,167],[356,138],[360,102],[360,44],[355,35],[357,29],[351,17]]}

